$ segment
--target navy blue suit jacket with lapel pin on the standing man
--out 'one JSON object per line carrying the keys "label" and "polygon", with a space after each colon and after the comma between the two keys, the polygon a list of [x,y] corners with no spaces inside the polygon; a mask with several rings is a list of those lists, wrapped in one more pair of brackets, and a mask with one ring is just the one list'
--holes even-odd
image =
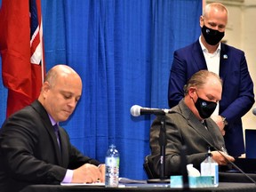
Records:
{"label": "navy blue suit jacket with lapel pin on the standing man", "polygon": [[[172,108],[184,97],[183,86],[201,69],[207,69],[199,40],[174,52],[169,80],[168,100]],[[224,136],[228,153],[240,156],[244,153],[244,137],[241,117],[254,103],[253,83],[244,52],[221,44],[220,77],[223,80],[220,115],[227,117]]]}

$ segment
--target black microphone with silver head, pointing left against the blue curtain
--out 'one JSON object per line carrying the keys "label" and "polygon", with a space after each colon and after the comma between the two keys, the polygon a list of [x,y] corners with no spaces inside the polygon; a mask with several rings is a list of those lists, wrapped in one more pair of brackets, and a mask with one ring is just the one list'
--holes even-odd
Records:
{"label": "black microphone with silver head, pointing left against the blue curtain", "polygon": [[132,116],[141,116],[147,114],[165,115],[171,112],[171,109],[166,108],[142,108],[139,105],[133,105],[131,108]]}

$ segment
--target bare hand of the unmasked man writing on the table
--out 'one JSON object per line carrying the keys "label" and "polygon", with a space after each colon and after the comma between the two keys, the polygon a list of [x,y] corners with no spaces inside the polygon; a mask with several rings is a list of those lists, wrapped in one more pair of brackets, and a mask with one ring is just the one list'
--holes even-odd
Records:
{"label": "bare hand of the unmasked man writing on the table", "polygon": [[84,164],[73,172],[72,183],[93,183],[102,178],[101,172],[93,164]]}

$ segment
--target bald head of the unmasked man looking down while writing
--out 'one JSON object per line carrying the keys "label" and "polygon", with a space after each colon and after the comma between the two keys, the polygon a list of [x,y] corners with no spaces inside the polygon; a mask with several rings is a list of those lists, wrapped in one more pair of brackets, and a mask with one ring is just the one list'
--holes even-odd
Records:
{"label": "bald head of the unmasked man looking down while writing", "polygon": [[82,94],[82,80],[73,68],[56,65],[44,78],[38,100],[56,122],[66,121]]}

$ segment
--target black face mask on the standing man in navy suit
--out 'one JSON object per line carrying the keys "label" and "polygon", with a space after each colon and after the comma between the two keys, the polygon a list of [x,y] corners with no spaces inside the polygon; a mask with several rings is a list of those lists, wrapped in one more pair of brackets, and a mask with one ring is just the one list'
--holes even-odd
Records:
{"label": "black face mask on the standing man in navy suit", "polygon": [[206,26],[203,26],[201,30],[202,30],[202,34],[204,36],[205,41],[207,42],[207,44],[211,44],[211,45],[219,44],[220,40],[225,35],[225,32],[220,32],[212,28],[207,28]]}

